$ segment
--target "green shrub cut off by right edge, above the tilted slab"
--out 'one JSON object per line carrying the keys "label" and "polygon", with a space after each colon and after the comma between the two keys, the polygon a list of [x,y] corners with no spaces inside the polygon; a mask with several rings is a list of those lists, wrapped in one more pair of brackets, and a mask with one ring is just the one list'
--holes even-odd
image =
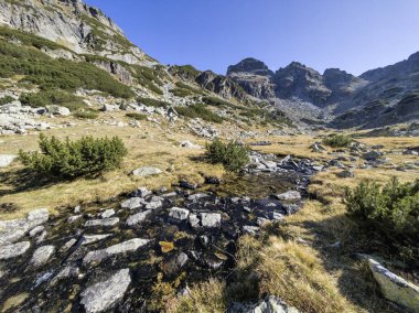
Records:
{"label": "green shrub cut off by right edge, above the tilted slab", "polygon": [[419,257],[419,180],[401,184],[393,177],[385,186],[362,181],[354,190],[345,190],[344,202],[364,229],[382,234],[405,257]]}

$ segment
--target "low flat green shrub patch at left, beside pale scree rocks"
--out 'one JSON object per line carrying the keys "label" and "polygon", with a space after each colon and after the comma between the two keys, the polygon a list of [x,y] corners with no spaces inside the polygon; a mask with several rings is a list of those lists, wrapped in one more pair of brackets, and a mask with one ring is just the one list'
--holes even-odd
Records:
{"label": "low flat green shrub patch at left, beside pale scree rocks", "polygon": [[33,108],[56,105],[76,111],[86,107],[80,97],[60,90],[21,94],[19,100]]}

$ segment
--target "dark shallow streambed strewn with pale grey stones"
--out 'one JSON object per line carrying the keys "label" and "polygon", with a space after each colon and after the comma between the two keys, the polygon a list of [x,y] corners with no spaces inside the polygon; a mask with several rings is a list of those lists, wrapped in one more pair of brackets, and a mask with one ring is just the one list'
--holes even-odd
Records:
{"label": "dark shallow streambed strewn with pale grey stones", "polygon": [[2,310],[139,312],[158,282],[185,292],[211,277],[234,279],[238,238],[297,212],[321,170],[310,160],[254,153],[253,161],[221,184],[142,187],[57,217],[37,209],[0,222]]}

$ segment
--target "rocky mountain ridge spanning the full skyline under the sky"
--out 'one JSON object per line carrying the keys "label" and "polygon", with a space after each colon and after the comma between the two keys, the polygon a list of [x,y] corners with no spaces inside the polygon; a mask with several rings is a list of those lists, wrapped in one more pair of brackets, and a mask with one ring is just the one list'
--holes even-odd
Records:
{"label": "rocky mountain ridge spanning the full skyline under the sky", "polygon": [[[358,77],[339,68],[320,74],[298,62],[273,72],[255,58],[229,66],[226,75],[190,65],[168,67],[82,0],[0,0],[0,30],[8,44],[31,45],[54,60],[93,64],[129,86],[132,94],[174,105],[200,102],[207,96],[245,106],[262,104],[264,109],[269,102],[271,110],[280,109],[292,119],[334,128],[374,128],[419,119],[419,53]],[[23,34],[8,30],[56,45],[25,42]],[[6,50],[2,53],[3,61],[13,57]]]}

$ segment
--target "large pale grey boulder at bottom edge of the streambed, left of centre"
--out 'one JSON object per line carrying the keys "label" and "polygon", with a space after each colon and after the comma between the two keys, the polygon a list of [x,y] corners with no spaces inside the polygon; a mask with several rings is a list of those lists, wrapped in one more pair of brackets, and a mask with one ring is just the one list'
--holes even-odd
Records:
{"label": "large pale grey boulder at bottom edge of the streambed, left of centre", "polygon": [[119,270],[109,279],[95,283],[83,291],[80,303],[87,313],[104,312],[122,300],[130,283],[129,269]]}

